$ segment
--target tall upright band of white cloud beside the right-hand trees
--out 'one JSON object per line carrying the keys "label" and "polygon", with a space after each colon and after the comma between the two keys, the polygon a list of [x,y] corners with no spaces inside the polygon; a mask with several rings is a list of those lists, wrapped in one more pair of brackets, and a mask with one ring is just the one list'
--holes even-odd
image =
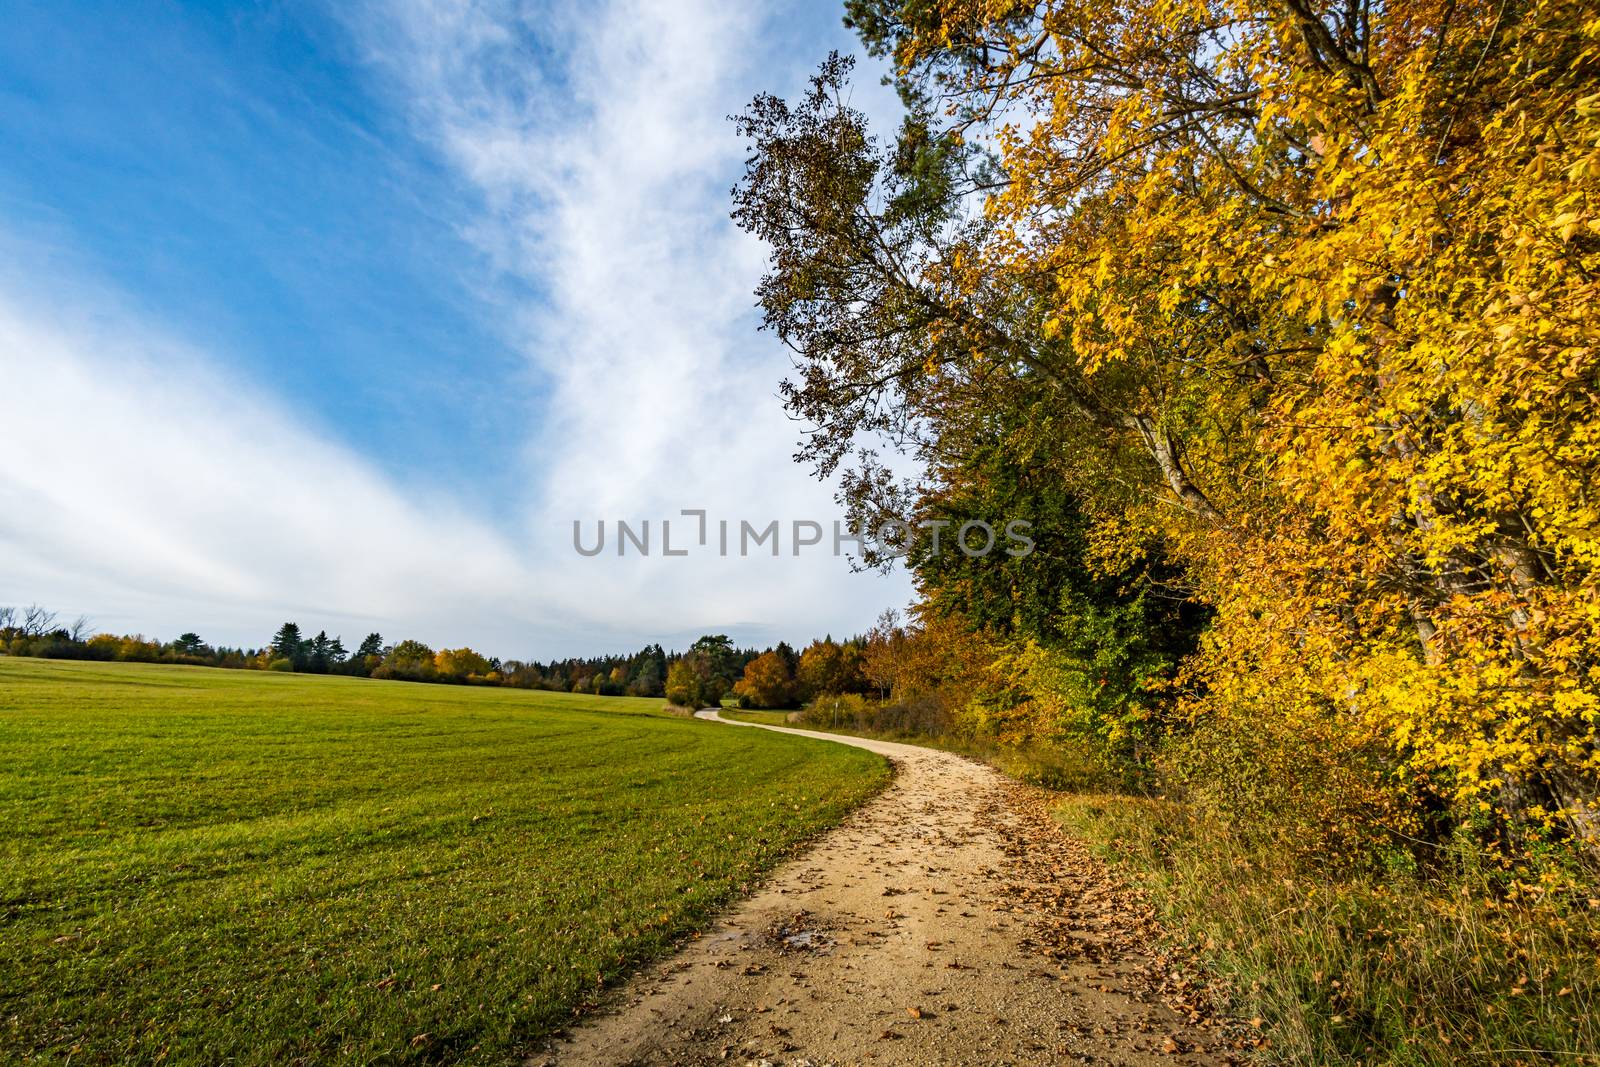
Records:
{"label": "tall upright band of white cloud beside the right-hand trees", "polygon": [[[830,490],[789,459],[798,427],[776,398],[786,352],[757,333],[763,250],[728,219],[744,155],[728,115],[760,90],[798,90],[827,45],[763,48],[781,37],[782,5],[565,11],[410,0],[358,22],[422,136],[482,194],[472,238],[544,294],[523,323],[528,358],[552,382],[530,448],[547,475],[533,539],[570,555],[570,518],[682,507],[829,523]],[[872,104],[874,78],[861,80]],[[790,621],[787,635],[862,627],[909,589],[822,553],[594,560],[554,581],[573,597],[632,598],[662,622]]]}

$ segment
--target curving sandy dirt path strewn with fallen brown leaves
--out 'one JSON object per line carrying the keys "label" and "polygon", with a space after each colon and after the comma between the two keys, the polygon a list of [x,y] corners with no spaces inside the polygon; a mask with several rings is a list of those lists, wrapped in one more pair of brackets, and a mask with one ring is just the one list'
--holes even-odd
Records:
{"label": "curving sandy dirt path strewn with fallen brown leaves", "polygon": [[1146,950],[1149,909],[1032,790],[931,749],[784,733],[878,752],[894,782],[533,1064],[1230,1062],[1170,1006],[1186,982]]}

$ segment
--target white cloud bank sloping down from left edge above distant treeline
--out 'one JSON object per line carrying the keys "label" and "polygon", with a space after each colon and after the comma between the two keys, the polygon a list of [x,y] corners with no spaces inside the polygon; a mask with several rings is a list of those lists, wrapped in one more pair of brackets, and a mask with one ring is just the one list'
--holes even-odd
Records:
{"label": "white cloud bank sloping down from left edge above distant treeline", "polygon": [[64,326],[0,299],[0,603],[254,643],[296,616],[346,638],[502,645],[539,627],[501,534],[408,499],[128,317]]}

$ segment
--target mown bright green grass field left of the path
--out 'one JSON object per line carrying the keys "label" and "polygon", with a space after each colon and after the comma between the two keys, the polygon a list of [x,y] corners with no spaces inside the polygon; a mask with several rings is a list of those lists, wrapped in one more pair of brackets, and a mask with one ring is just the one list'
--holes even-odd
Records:
{"label": "mown bright green grass field left of the path", "polygon": [[0,657],[0,1059],[514,1057],[886,781],[659,707]]}

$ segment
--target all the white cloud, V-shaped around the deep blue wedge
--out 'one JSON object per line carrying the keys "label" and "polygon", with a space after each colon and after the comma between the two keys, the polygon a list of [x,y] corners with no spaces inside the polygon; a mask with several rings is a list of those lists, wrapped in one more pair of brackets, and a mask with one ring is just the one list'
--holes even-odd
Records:
{"label": "all the white cloud, V-shaped around the deep blue wedge", "polygon": [[[837,514],[789,459],[787,362],[750,307],[762,250],[726,218],[742,158],[726,115],[757,90],[795,91],[822,48],[765,53],[773,18],[739,0],[565,14],[402,0],[357,16],[374,78],[475,194],[466,237],[539,294],[485,293],[549,382],[517,530],[394,483],[251,395],[226,352],[171,341],[181,325],[0,278],[0,603],[163,637],[261,641],[296,617],[347,641],[378,629],[546,657],[712,629],[803,640],[904,601],[904,576],[795,558],[787,533],[781,558],[659,555],[659,520],[683,507]],[[650,518],[658,555],[581,558],[574,518]]]}

